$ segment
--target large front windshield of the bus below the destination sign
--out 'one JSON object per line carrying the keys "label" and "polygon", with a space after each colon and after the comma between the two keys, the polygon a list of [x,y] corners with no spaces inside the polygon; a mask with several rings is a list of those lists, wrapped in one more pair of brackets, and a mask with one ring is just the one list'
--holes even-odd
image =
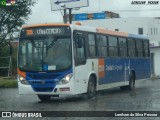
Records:
{"label": "large front windshield of the bus below the destination sign", "polygon": [[71,66],[70,37],[20,39],[19,68],[25,71],[58,71]]}

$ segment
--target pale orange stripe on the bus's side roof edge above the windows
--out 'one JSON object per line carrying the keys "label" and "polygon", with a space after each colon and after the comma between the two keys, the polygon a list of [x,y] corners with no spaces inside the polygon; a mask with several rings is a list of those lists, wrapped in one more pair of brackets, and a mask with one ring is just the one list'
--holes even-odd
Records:
{"label": "pale orange stripe on the bus's side roof edge above the windows", "polygon": [[124,36],[124,37],[128,36],[128,33],[125,33],[125,32],[105,30],[105,29],[101,29],[101,28],[97,28],[96,31],[97,31],[97,33],[102,33],[102,34],[111,34],[111,35]]}

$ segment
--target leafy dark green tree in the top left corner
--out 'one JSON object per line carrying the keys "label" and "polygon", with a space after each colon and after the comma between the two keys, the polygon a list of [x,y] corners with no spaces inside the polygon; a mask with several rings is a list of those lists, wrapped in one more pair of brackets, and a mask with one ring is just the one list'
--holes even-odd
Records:
{"label": "leafy dark green tree in the top left corner", "polygon": [[0,45],[6,38],[11,39],[31,14],[33,0],[16,0],[15,5],[0,6]]}

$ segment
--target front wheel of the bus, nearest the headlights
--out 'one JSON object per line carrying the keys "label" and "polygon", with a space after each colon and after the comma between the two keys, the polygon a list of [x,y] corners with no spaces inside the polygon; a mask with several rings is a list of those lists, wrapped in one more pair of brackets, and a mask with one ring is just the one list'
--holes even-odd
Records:
{"label": "front wheel of the bus, nearest the headlights", "polygon": [[87,97],[92,98],[95,96],[95,94],[96,94],[96,83],[94,78],[91,76],[88,82]]}

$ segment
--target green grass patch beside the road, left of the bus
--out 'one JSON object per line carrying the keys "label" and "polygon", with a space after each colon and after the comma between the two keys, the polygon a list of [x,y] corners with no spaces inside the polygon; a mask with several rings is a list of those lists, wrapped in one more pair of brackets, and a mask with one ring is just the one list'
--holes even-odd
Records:
{"label": "green grass patch beside the road, left of the bus", "polygon": [[0,88],[16,88],[17,80],[13,78],[0,78]]}

